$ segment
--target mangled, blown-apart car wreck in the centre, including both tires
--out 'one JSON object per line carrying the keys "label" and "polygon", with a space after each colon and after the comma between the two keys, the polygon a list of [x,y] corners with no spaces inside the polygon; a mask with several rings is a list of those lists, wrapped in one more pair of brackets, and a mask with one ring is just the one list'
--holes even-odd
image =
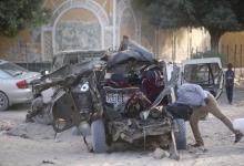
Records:
{"label": "mangled, blown-apart car wreck in the centre, including both tires", "polygon": [[[77,62],[32,82],[35,100],[28,120],[48,116],[57,133],[77,126],[85,144],[91,135],[94,153],[105,153],[116,142],[144,148],[157,143],[180,158],[177,149],[186,148],[185,124],[166,111],[175,100],[179,68],[156,61],[129,40],[109,56],[78,56]],[[50,90],[44,102],[43,92]]]}

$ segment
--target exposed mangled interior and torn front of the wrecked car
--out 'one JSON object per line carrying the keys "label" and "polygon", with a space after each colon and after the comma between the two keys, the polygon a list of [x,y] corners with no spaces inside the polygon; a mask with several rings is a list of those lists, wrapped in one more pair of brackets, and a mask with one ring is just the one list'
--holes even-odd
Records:
{"label": "exposed mangled interior and torn front of the wrecked car", "polygon": [[[139,65],[139,64],[138,64]],[[123,139],[133,143],[144,136],[163,135],[169,133],[171,120],[160,108],[143,117],[143,112],[164,89],[163,71],[159,65],[143,65],[128,62],[113,69],[103,87],[104,116],[112,139]],[[116,72],[120,71],[120,72]],[[165,97],[162,102],[167,104]]]}

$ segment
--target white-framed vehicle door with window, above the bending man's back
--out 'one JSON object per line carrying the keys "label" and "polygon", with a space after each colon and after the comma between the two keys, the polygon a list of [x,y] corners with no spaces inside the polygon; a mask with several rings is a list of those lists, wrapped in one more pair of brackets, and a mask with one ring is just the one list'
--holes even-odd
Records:
{"label": "white-framed vehicle door with window, above the bending man's back", "polygon": [[181,83],[194,83],[218,98],[223,92],[224,72],[220,58],[185,60],[182,63]]}

